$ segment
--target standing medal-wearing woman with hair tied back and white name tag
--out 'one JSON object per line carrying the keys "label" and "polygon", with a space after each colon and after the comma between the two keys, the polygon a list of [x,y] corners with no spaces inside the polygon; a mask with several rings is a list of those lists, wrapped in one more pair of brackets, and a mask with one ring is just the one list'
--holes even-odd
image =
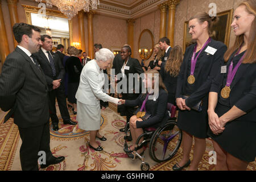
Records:
{"label": "standing medal-wearing woman with hair tied back and white name tag", "polygon": [[[173,167],[178,171],[184,167],[197,170],[205,152],[207,138],[208,92],[212,79],[220,70],[225,44],[210,38],[216,17],[198,13],[189,19],[189,33],[195,44],[189,46],[177,76],[176,105],[179,107],[177,126],[183,130],[183,158]],[[192,162],[189,159],[193,136],[195,148]]]}

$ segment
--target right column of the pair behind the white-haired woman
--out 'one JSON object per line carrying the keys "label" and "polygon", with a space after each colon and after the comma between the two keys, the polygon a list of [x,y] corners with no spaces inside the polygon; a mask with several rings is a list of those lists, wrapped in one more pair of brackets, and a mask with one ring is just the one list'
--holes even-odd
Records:
{"label": "right column of the pair behind the white-haired woman", "polygon": [[96,11],[89,11],[87,13],[87,21],[88,21],[88,55],[90,59],[94,59],[94,51],[93,51],[93,14]]}

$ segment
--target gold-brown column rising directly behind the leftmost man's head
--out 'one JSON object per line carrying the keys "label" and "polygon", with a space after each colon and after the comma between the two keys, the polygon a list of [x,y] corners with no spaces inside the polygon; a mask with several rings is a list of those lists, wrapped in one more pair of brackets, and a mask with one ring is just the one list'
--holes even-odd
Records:
{"label": "gold-brown column rising directly behind the leftmost man's head", "polygon": [[[11,27],[15,23],[19,23],[19,18],[18,18],[18,11],[17,11],[17,1],[18,0],[8,0],[8,7],[9,7],[9,14],[10,14],[10,20],[11,20]],[[14,41],[14,47],[18,45],[16,42],[14,36],[13,36],[13,41]]]}

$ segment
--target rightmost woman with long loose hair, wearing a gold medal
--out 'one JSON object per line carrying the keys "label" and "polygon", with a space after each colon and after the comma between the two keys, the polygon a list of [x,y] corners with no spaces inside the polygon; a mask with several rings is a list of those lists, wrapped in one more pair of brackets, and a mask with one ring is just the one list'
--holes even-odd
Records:
{"label": "rightmost woman with long loose hair, wearing a gold medal", "polygon": [[256,156],[256,1],[234,11],[237,36],[224,55],[209,93],[209,135],[217,153],[216,170],[246,170]]}

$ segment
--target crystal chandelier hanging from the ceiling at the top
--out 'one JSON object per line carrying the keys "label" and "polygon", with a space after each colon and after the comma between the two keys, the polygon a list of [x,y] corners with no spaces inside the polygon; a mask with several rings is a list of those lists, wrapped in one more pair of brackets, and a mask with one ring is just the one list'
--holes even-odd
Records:
{"label": "crystal chandelier hanging from the ceiling at the top", "polygon": [[[35,0],[36,2],[42,2],[42,0]],[[61,13],[66,15],[68,19],[72,19],[80,10],[89,12],[90,9],[96,10],[100,5],[100,0],[46,0],[46,6],[52,7],[52,5],[58,7]]]}

